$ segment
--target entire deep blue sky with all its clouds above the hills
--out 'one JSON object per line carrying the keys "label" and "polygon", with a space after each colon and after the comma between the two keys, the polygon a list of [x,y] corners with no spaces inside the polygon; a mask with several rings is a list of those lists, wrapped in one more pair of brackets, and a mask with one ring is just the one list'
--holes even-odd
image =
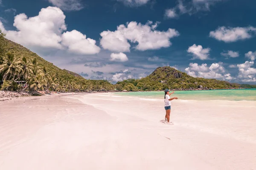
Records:
{"label": "entire deep blue sky with all its clouds above the hills", "polygon": [[0,0],[0,28],[86,79],[141,78],[160,66],[256,84],[256,1]]}

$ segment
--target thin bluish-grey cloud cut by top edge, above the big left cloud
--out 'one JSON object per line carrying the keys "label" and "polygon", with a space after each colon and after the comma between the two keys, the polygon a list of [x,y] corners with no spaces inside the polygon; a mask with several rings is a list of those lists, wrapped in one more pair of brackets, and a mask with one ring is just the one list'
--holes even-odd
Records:
{"label": "thin bluish-grey cloud cut by top edge, above the big left cloud", "polygon": [[81,0],[49,0],[54,6],[61,8],[64,11],[79,11],[84,6],[81,4]]}

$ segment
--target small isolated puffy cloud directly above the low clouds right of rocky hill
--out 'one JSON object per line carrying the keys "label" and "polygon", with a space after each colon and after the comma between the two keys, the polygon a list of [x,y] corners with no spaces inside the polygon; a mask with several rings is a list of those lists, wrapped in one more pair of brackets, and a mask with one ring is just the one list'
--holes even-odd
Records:
{"label": "small isolated puffy cloud directly above the low clouds right of rocky hill", "polygon": [[210,48],[203,48],[202,45],[192,45],[189,47],[189,49],[187,50],[187,52],[192,53],[193,54],[193,59],[201,59],[201,60],[205,60],[205,59],[209,59],[209,51]]}

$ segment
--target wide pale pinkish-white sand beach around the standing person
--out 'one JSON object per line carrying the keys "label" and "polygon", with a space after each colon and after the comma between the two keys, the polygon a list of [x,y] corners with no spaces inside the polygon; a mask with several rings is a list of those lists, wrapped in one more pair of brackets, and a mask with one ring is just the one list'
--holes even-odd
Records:
{"label": "wide pale pinkish-white sand beach around the standing person", "polygon": [[0,170],[256,170],[255,101],[107,94],[0,102]]}

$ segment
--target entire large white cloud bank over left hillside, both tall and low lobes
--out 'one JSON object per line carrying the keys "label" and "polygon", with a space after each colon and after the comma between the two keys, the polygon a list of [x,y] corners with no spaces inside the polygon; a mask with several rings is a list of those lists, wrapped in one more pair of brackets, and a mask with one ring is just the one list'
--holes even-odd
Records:
{"label": "entire large white cloud bank over left hillside, both tall and low lobes", "polygon": [[[57,48],[77,54],[96,54],[100,48],[96,41],[86,38],[79,31],[67,31],[65,15],[60,8],[42,8],[38,16],[28,18],[26,14],[15,16],[17,31],[6,31],[0,22],[0,28],[6,32],[6,38],[28,48]],[[63,33],[64,32],[64,33]]]}

